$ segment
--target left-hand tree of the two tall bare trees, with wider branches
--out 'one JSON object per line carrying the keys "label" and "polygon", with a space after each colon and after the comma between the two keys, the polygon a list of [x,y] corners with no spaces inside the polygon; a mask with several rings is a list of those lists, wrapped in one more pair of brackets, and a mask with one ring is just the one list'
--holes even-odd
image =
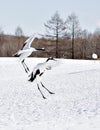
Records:
{"label": "left-hand tree of the two tall bare trees, with wider branches", "polygon": [[48,20],[44,26],[46,27],[46,37],[52,38],[56,41],[56,58],[58,54],[58,42],[59,38],[64,36],[66,33],[65,22],[60,18],[58,12],[56,12],[50,20]]}

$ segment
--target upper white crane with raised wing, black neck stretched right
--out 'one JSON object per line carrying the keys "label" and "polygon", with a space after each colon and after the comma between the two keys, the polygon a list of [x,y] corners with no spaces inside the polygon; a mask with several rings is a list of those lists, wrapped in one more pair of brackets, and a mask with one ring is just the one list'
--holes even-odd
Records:
{"label": "upper white crane with raised wing, black neck stretched right", "polygon": [[25,72],[28,73],[29,72],[29,68],[28,66],[25,64],[25,58],[27,58],[28,56],[30,56],[32,54],[32,52],[34,51],[44,51],[44,48],[33,48],[30,47],[32,44],[32,41],[34,40],[35,35],[32,35],[31,37],[29,37],[23,44],[23,47],[17,52],[15,53],[13,56],[15,57],[19,57],[20,62],[22,63]]}

